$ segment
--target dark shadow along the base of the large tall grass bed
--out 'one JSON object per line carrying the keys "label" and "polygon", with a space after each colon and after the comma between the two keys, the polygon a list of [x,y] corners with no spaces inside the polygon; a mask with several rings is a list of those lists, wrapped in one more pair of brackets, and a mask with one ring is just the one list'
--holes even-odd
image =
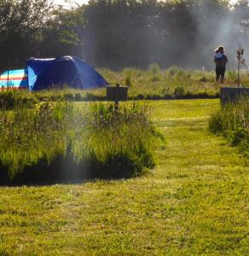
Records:
{"label": "dark shadow along the base of the large tall grass bed", "polygon": [[[153,162],[147,166],[154,166]],[[122,154],[107,157],[103,163],[96,158],[76,162],[71,156],[57,156],[48,163],[39,160],[38,163],[27,166],[22,172],[11,177],[6,166],[0,163],[0,186],[20,185],[52,185],[55,183],[82,183],[95,179],[122,179],[139,176],[142,166]]]}

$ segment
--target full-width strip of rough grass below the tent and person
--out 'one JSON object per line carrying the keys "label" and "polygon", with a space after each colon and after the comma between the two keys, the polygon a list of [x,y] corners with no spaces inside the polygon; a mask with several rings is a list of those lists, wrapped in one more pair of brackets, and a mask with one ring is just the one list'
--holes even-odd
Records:
{"label": "full-width strip of rough grass below the tent and person", "polygon": [[[171,98],[204,98],[217,97],[219,86],[235,86],[236,73],[226,73],[224,84],[215,82],[214,71],[184,70],[170,67],[161,70],[159,65],[153,64],[148,70],[125,68],[119,72],[101,69],[100,73],[109,84],[124,84],[129,86],[129,98],[134,99],[171,99]],[[249,78],[241,73],[241,84],[248,86]],[[75,90],[63,89],[41,90],[37,92],[3,91],[0,92],[0,108],[14,108],[14,105],[27,104],[30,107],[41,101],[68,101],[84,102],[93,100],[106,100],[106,90]]]}

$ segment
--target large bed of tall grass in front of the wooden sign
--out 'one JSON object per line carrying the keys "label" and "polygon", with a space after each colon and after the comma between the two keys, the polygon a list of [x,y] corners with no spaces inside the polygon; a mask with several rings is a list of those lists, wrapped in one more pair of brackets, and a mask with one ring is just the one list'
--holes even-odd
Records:
{"label": "large bed of tall grass in front of the wooden sign", "polygon": [[137,104],[115,111],[113,104],[70,102],[1,111],[0,172],[23,182],[136,177],[154,165],[148,113]]}

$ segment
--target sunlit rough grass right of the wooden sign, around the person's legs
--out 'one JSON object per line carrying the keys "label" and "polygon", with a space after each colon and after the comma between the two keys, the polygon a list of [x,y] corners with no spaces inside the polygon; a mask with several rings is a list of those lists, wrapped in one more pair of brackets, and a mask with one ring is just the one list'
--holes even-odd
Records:
{"label": "sunlit rough grass right of the wooden sign, around the person's legs", "polygon": [[[162,70],[157,64],[151,65],[148,70],[125,68],[114,72],[101,69],[100,73],[110,84],[131,84],[131,99],[218,97],[220,86],[238,84],[235,72],[229,70],[225,75],[224,84],[217,84],[214,70],[186,70],[179,67]],[[248,86],[249,77],[246,73],[241,75],[241,83]]]}

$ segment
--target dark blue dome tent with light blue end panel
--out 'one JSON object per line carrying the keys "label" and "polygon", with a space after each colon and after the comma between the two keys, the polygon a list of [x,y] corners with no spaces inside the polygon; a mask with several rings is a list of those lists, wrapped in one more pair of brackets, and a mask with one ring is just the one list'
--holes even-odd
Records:
{"label": "dark blue dome tent with light blue end panel", "polygon": [[26,61],[29,90],[41,90],[67,85],[78,89],[91,89],[107,85],[93,67],[83,60],[62,56],[55,59],[31,58]]}

